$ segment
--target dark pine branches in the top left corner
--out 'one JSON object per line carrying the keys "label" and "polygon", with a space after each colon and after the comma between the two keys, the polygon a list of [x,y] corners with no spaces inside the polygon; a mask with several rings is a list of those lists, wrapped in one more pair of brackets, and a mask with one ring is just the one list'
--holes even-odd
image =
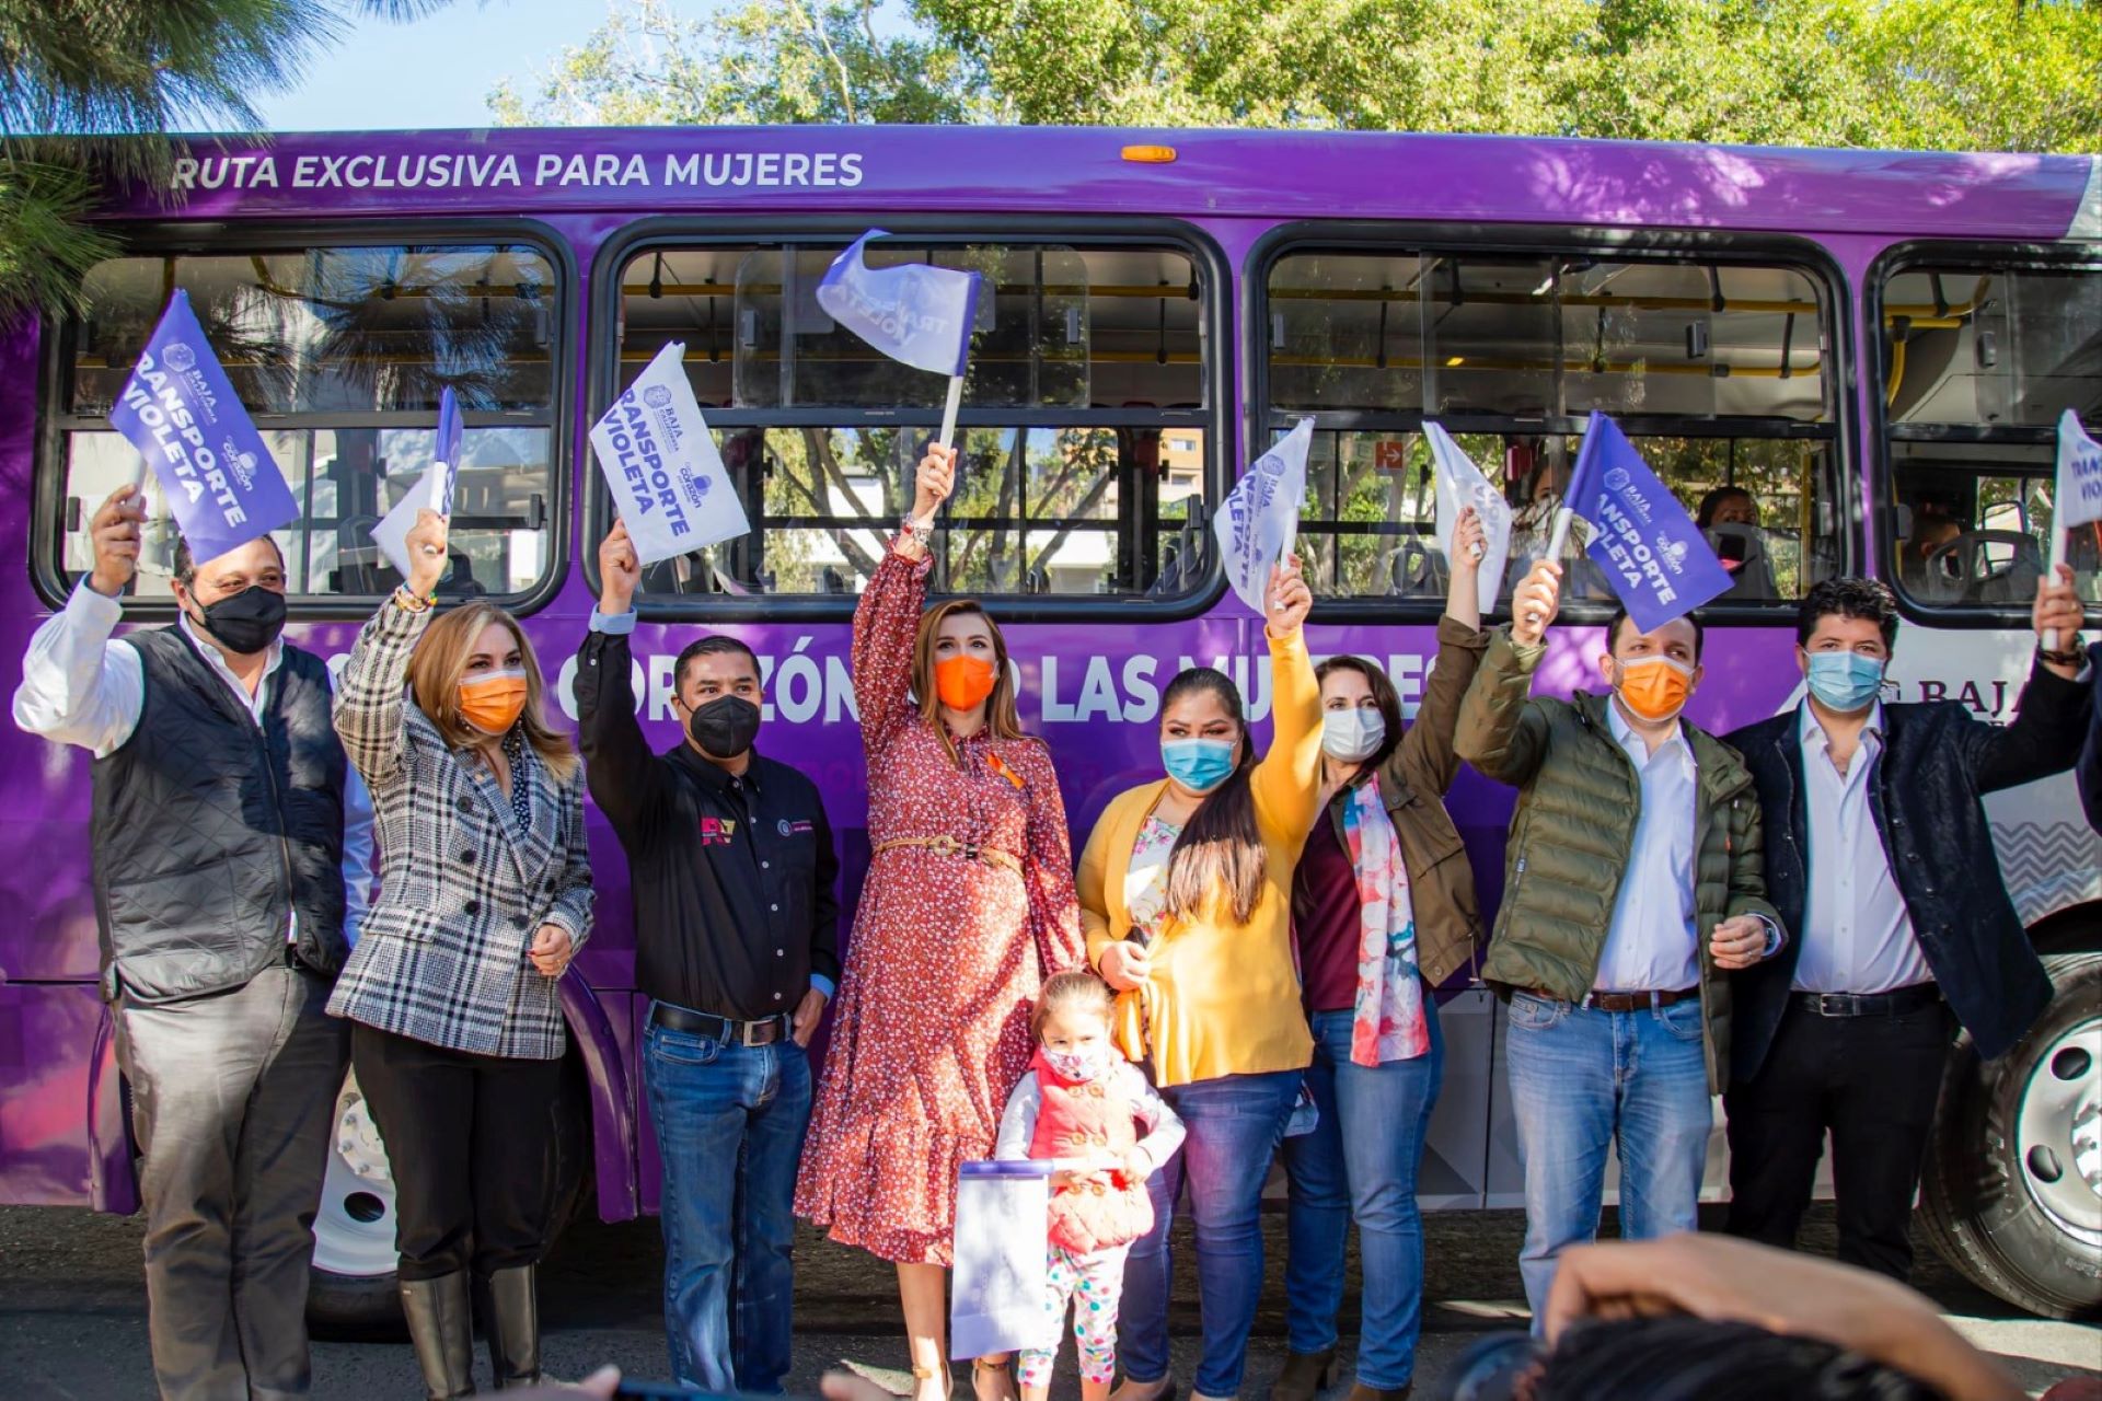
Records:
{"label": "dark pine branches in the top left corner", "polygon": [[[0,0],[0,317],[80,302],[114,244],[99,181],[149,179],[181,128],[254,128],[353,17],[446,0]],[[59,137],[59,139],[53,139]]]}

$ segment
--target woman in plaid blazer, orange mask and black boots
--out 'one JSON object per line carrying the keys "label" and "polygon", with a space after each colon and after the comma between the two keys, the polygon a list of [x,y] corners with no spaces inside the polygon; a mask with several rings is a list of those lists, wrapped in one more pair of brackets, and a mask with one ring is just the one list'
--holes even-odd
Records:
{"label": "woman in plaid blazer, orange mask and black boots", "polygon": [[380,895],[328,1010],[395,1183],[401,1309],[431,1397],[473,1393],[471,1279],[496,1384],[540,1376],[534,1267],[555,1210],[557,983],[591,933],[584,779],[526,632],[433,605],[446,519],[359,630],[336,733],[378,807]]}

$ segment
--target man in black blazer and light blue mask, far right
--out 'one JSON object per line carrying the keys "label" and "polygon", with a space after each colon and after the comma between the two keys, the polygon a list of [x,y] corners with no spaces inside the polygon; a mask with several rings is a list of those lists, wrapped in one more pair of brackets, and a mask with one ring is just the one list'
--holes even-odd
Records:
{"label": "man in black blazer and light blue mask, far right", "polygon": [[[1833,1145],[1839,1258],[1904,1279],[1913,1195],[1957,1027],[2005,1054],[2052,1000],[2007,899],[1980,794],[2073,767],[2094,708],[2060,565],[2010,725],[1883,699],[1898,601],[1825,580],[1795,622],[1804,702],[1732,731],[1757,781],[1766,888],[1793,930],[1730,977],[1730,1231],[1793,1246]],[[2043,639],[2058,630],[2058,649]]]}

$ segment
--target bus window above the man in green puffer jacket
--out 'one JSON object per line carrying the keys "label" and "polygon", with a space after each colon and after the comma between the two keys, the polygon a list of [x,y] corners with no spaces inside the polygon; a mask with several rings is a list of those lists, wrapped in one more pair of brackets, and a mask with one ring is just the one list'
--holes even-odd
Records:
{"label": "bus window above the man in green puffer jacket", "polygon": [[[1841,567],[1829,311],[1806,271],[1295,248],[1265,294],[1270,424],[1316,420],[1299,540],[1322,597],[1444,597],[1425,418],[1516,506],[1505,597],[1547,546],[1591,410],[1698,515],[1734,576],[1722,603],[1797,599]],[[1566,594],[1610,599],[1581,540]]]}

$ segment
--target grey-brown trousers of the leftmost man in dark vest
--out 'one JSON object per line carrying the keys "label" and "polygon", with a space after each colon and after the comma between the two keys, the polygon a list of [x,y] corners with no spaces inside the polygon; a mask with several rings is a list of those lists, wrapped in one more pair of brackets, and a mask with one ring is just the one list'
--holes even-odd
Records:
{"label": "grey-brown trousers of the leftmost man in dark vest", "polygon": [[313,1212],[343,1086],[326,1004],[326,981],[277,966],[235,991],[116,1010],[168,1401],[307,1395]]}

